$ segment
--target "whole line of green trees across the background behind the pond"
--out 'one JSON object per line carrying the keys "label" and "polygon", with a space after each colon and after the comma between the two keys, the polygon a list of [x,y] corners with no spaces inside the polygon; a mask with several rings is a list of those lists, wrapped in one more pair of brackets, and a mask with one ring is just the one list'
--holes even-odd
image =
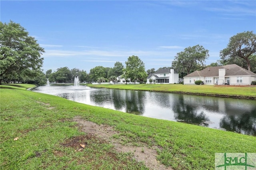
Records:
{"label": "whole line of green trees across the background behind the pond", "polygon": [[[118,76],[130,81],[145,82],[146,77],[155,72],[155,68],[146,71],[144,62],[132,55],[128,57],[125,66],[117,61],[112,68],[97,66],[90,69],[90,73],[77,68],[70,70],[68,67],[61,67],[54,72],[49,69],[44,73],[41,69],[44,60],[41,55],[44,52],[44,48],[20,24],[0,22],[0,83],[43,85],[46,79],[50,82],[72,83],[77,76],[80,82],[117,81]],[[170,64],[178,71],[180,78],[208,66],[227,64],[237,64],[256,73],[256,34],[252,31],[232,36],[227,47],[220,51],[220,59],[205,65],[208,53],[208,49],[202,45],[186,47],[176,54]],[[165,67],[159,69],[162,68]]]}

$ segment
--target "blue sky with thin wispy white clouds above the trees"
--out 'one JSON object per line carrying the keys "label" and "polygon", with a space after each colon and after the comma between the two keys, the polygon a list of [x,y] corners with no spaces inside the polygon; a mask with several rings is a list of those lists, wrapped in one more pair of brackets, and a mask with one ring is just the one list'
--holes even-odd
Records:
{"label": "blue sky with thin wispy white clouds above the trees", "polygon": [[186,47],[209,50],[206,64],[220,59],[230,37],[256,33],[256,1],[0,1],[1,22],[19,23],[45,53],[42,69],[90,72],[125,66],[137,55],[145,68],[170,67]]}

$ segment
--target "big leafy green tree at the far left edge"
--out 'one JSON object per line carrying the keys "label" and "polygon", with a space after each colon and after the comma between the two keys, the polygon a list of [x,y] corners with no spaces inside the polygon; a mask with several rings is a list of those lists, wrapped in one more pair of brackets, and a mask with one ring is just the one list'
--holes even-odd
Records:
{"label": "big leafy green tree at the far left edge", "polygon": [[[0,22],[0,77],[12,77],[26,74],[30,69],[40,71],[43,64],[41,57],[44,49],[39,46],[34,37],[29,36],[25,28],[12,21]],[[33,78],[36,75],[29,75]]]}

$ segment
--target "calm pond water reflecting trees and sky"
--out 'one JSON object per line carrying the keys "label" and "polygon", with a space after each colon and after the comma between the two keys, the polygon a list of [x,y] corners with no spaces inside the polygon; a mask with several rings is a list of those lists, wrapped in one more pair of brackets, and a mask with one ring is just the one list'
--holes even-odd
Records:
{"label": "calm pond water reflecting trees and sky", "polygon": [[40,86],[33,91],[145,117],[256,136],[255,100],[87,86]]}

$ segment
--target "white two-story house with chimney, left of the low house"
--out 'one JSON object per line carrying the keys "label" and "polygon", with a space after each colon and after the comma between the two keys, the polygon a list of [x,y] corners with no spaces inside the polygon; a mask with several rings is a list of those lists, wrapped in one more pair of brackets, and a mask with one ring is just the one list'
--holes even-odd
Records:
{"label": "white two-story house with chimney, left of the low house", "polygon": [[152,79],[152,83],[156,84],[174,84],[179,83],[179,74],[171,67],[168,67],[166,69],[160,69],[155,73],[150,73],[147,77],[147,84],[150,83],[149,79]]}

